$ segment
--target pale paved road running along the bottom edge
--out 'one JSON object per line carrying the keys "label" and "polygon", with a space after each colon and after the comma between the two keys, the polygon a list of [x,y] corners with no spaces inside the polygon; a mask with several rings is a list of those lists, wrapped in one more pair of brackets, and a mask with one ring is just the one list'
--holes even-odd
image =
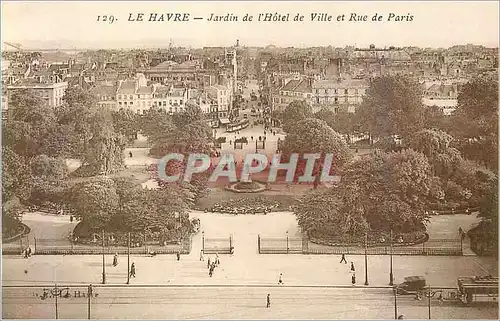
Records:
{"label": "pale paved road running along the bottom edge", "polygon": [[[87,298],[58,299],[58,317],[85,319]],[[95,319],[392,319],[394,297],[390,289],[324,287],[97,287],[92,298]],[[55,300],[41,300],[41,288],[4,288],[4,318],[55,318]],[[266,296],[271,307],[266,308]],[[36,296],[38,295],[38,297]],[[407,319],[426,319],[427,301],[398,296],[398,314]],[[495,304],[431,302],[436,319],[495,319]]]}

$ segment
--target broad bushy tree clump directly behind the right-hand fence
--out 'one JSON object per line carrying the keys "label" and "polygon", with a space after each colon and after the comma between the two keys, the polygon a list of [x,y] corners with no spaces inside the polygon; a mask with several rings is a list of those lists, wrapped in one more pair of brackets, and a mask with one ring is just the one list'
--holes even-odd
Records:
{"label": "broad bushy tree clump directly behind the right-hand fence", "polygon": [[[307,196],[299,205],[299,224],[357,237],[368,230],[418,231],[427,219],[426,204],[439,192],[423,154],[378,152],[347,165],[338,187]],[[336,221],[329,215],[336,215]]]}

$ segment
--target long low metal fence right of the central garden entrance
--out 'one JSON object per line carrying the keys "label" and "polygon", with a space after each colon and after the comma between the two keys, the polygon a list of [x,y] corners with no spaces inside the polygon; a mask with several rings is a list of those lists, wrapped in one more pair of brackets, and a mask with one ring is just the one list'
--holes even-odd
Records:
{"label": "long low metal fence right of the central garden entrance", "polygon": [[417,245],[360,243],[334,246],[312,243],[307,237],[258,236],[260,254],[354,254],[364,255],[463,255],[461,239],[430,239]]}

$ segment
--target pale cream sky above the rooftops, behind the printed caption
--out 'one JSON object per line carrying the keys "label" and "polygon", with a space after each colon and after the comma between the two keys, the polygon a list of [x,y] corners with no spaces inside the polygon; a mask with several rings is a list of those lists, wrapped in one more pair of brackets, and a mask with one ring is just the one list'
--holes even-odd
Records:
{"label": "pale cream sky above the rooftops, behind the printed caption", "polygon": [[[328,1],[2,1],[1,35],[26,49],[113,49],[174,46],[310,47],[384,46],[450,47],[478,44],[498,47],[498,1],[443,2],[328,2]],[[186,22],[128,21],[144,13],[187,13]],[[210,22],[211,14],[238,16],[238,22]],[[245,14],[254,21],[241,21]],[[304,15],[304,21],[255,21],[260,13]],[[325,13],[333,21],[311,21],[311,14]],[[347,21],[351,14],[368,21]],[[374,14],[382,21],[371,21]],[[390,13],[413,16],[412,21],[387,21]],[[345,21],[337,21],[339,15]],[[113,15],[114,23],[97,21]],[[202,20],[193,20],[201,17]],[[394,19],[393,19],[394,20]]]}

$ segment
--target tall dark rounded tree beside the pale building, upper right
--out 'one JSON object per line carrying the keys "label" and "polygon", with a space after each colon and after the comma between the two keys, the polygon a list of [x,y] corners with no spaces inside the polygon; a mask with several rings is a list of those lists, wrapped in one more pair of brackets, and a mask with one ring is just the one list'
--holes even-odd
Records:
{"label": "tall dark rounded tree beside the pale building, upper right", "polygon": [[406,137],[423,126],[422,88],[412,78],[375,78],[359,108],[360,128],[381,138]]}

